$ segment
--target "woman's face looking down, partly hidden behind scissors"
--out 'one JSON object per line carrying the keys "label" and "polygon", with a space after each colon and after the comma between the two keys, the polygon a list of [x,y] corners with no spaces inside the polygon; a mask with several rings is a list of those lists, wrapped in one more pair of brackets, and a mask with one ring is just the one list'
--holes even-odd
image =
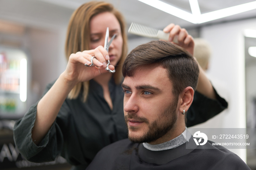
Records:
{"label": "woman's face looking down, partly hidden behind scissors", "polygon": [[104,47],[107,27],[109,27],[109,40],[114,34],[116,34],[116,37],[109,46],[110,63],[116,66],[122,54],[123,37],[121,34],[120,24],[113,13],[103,12],[91,18],[90,48],[95,49],[98,46]]}

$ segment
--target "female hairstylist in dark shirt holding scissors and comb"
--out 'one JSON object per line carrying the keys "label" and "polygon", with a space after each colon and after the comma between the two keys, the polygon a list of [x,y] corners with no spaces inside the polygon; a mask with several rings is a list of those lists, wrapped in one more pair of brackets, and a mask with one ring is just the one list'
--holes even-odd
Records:
{"label": "female hairstylist in dark shirt holding scissors and comb", "polygon": [[[107,52],[106,28],[116,37]],[[178,35],[179,45],[193,54],[193,38],[185,29],[170,24],[164,30]],[[127,138],[123,114],[121,67],[127,54],[125,23],[120,12],[105,2],[83,4],[68,26],[66,70],[47,86],[44,96],[32,105],[14,127],[15,144],[29,161],[67,159],[73,169],[85,169],[104,146]],[[91,58],[95,66],[90,65]],[[111,70],[105,70],[110,60]],[[226,107],[200,70],[196,94],[199,102],[188,111],[188,125],[202,123]],[[207,96],[207,97],[206,97]]]}

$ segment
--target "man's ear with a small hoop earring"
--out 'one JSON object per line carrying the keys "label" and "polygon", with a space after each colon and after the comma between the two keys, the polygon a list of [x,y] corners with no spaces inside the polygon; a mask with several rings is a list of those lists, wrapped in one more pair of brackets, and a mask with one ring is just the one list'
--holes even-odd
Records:
{"label": "man's ear with a small hoop earring", "polygon": [[188,111],[188,108],[193,102],[193,97],[194,97],[194,90],[192,87],[189,86],[183,90],[183,92],[180,94],[181,103],[180,103],[179,111],[181,113],[183,113],[183,110],[185,110],[185,112]]}

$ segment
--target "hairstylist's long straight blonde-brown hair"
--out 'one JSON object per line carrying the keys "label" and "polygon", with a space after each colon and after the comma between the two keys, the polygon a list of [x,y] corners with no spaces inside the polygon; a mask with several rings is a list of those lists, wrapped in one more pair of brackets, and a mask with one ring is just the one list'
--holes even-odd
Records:
{"label": "hairstylist's long straight blonde-brown hair", "polygon": [[[78,51],[90,50],[90,20],[93,16],[102,12],[113,13],[120,26],[123,37],[123,48],[120,61],[118,61],[115,69],[116,73],[113,78],[116,84],[120,84],[123,80],[122,76],[122,63],[128,51],[127,35],[125,32],[125,21],[123,16],[112,4],[106,2],[91,1],[81,5],[72,14],[68,24],[67,39],[65,43],[65,55],[67,60],[72,53]],[[83,101],[85,102],[89,92],[89,81],[80,82],[68,94],[68,98],[75,99],[78,97],[80,91],[83,90]]]}

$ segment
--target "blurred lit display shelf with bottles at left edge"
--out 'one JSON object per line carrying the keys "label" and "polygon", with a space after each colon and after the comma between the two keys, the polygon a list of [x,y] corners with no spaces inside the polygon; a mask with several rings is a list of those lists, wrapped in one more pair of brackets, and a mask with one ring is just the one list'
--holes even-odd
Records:
{"label": "blurred lit display shelf with bottles at left edge", "polygon": [[0,118],[13,119],[26,111],[27,59],[21,49],[0,46]]}

